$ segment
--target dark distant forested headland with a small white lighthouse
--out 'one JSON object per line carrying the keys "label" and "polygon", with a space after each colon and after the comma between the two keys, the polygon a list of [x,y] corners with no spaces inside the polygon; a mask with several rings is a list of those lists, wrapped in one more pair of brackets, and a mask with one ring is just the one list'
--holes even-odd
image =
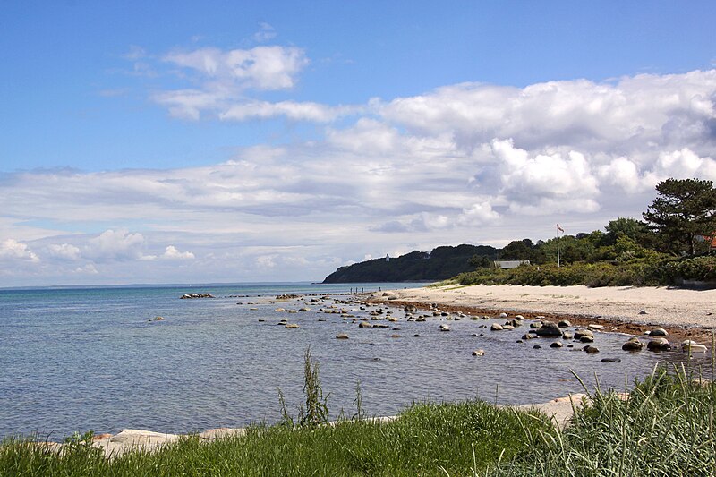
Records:
{"label": "dark distant forested headland with a small white lighthouse", "polygon": [[338,268],[323,283],[408,282],[444,280],[472,271],[468,263],[474,255],[496,260],[498,249],[488,245],[438,247],[433,251],[411,251],[386,260],[373,259]]}

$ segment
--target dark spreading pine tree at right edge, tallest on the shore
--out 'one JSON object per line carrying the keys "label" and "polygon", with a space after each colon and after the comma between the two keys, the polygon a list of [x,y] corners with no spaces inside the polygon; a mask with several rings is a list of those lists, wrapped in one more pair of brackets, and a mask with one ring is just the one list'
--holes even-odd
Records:
{"label": "dark spreading pine tree at right edge, tallest on the shore", "polygon": [[712,181],[667,179],[656,184],[659,192],[642,214],[652,230],[666,240],[668,251],[695,254],[697,236],[716,232],[716,189]]}

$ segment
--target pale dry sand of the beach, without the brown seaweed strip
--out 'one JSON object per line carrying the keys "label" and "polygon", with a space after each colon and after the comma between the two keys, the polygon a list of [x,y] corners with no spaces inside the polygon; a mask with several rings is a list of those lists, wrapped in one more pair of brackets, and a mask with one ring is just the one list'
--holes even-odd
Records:
{"label": "pale dry sand of the beach, without the brown seaweed strip", "polygon": [[[398,300],[496,311],[602,317],[633,323],[716,328],[716,289],[669,287],[447,285],[393,290]],[[387,296],[374,294],[376,299]],[[646,311],[646,314],[640,314]]]}

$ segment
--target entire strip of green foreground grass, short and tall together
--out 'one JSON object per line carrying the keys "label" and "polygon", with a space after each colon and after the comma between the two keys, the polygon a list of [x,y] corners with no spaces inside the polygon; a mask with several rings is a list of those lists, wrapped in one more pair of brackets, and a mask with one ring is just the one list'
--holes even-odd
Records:
{"label": "entire strip of green foreground grass, short and tall together", "polygon": [[110,459],[90,434],[60,451],[6,439],[0,475],[716,475],[712,374],[658,368],[627,394],[597,389],[564,430],[536,411],[471,400],[414,404],[389,422],[284,421],[209,442],[188,436]]}

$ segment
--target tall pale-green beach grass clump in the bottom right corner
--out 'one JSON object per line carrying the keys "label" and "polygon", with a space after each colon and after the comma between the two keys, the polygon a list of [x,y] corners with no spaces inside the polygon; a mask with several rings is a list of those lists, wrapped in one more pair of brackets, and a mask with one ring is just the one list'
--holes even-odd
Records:
{"label": "tall pale-green beach grass clump in the bottom right corner", "polygon": [[716,475],[716,388],[685,369],[659,369],[624,396],[595,392],[563,432],[542,436],[532,461],[492,475]]}

